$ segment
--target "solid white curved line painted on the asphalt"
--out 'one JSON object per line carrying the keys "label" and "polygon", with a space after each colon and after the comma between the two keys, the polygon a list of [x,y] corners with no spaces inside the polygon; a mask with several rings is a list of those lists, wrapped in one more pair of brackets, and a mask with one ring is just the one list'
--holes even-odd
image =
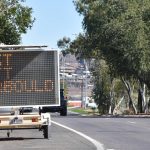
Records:
{"label": "solid white curved line painted on the asphalt", "polygon": [[83,133],[81,133],[81,132],[79,132],[79,131],[77,131],[77,130],[74,130],[74,129],[72,129],[72,128],[69,128],[69,127],[64,126],[64,125],[62,125],[62,124],[59,124],[59,123],[57,123],[57,122],[55,122],[55,121],[52,121],[52,123],[53,123],[53,124],[56,124],[56,125],[58,125],[58,126],[60,126],[60,127],[62,127],[62,128],[65,128],[65,129],[67,129],[67,130],[70,130],[70,131],[72,131],[72,132],[74,132],[74,133],[76,133],[76,134],[82,136],[83,138],[87,139],[88,141],[92,142],[92,143],[96,146],[97,150],[104,150],[103,144],[101,144],[100,142],[98,142],[98,141],[92,139],[91,137],[89,137],[89,136],[87,136],[87,135],[85,135],[85,134],[83,134]]}

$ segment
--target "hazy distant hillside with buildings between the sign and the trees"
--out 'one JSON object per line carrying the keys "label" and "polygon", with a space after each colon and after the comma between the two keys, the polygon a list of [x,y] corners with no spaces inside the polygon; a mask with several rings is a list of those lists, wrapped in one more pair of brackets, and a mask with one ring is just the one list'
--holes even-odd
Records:
{"label": "hazy distant hillside with buildings between the sign and the trees", "polygon": [[68,96],[78,96],[80,101],[82,96],[91,96],[90,71],[86,70],[84,61],[77,61],[74,55],[67,54],[63,57],[60,54],[60,79],[63,79],[68,87]]}

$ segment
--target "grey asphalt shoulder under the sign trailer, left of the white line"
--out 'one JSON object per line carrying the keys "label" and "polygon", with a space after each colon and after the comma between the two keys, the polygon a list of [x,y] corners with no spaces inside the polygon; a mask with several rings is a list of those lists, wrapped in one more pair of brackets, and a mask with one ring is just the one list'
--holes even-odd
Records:
{"label": "grey asphalt shoulder under the sign trailer, left of the white line", "polygon": [[0,150],[96,150],[85,138],[52,124],[50,139],[44,139],[38,130],[0,130]]}

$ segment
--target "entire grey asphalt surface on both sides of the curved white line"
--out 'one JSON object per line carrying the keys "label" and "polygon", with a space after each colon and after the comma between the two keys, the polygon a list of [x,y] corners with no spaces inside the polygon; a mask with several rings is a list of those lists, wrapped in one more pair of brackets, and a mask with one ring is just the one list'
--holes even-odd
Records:
{"label": "entire grey asphalt surface on both sides of the curved white line", "polygon": [[149,118],[61,117],[53,114],[52,120],[79,132],[52,124],[47,140],[38,130],[15,130],[10,138],[6,136],[7,131],[0,131],[0,150],[96,150],[91,139],[102,144],[104,150],[150,149]]}

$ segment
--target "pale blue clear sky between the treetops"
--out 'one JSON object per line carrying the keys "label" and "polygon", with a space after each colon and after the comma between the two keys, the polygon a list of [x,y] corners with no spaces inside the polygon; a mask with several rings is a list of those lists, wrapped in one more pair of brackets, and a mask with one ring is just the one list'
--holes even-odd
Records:
{"label": "pale blue clear sky between the treetops", "polygon": [[36,21],[31,30],[22,36],[23,45],[48,45],[57,48],[64,36],[74,39],[82,32],[82,16],[75,10],[72,0],[26,0],[33,8]]}

